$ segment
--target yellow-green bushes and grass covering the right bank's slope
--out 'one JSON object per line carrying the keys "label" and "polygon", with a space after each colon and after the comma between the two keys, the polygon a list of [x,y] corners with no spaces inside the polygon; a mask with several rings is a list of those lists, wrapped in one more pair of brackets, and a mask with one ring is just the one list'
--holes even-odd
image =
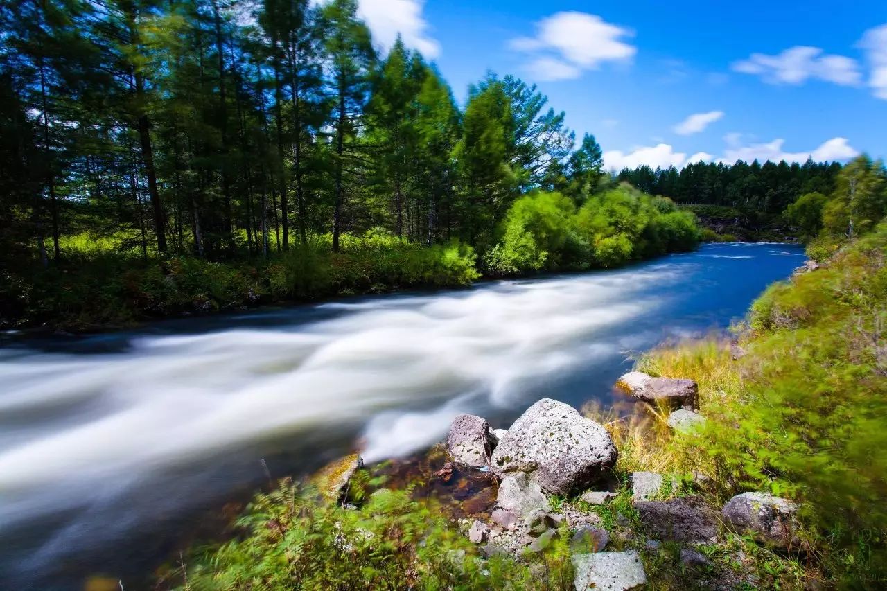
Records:
{"label": "yellow-green bushes and grass covering the right bank's slope", "polygon": [[653,457],[711,477],[718,501],[748,490],[797,500],[817,576],[875,588],[887,580],[887,223],[836,247],[815,243],[834,253],[827,266],[757,299],[738,362],[723,346],[685,343],[639,368],[695,379],[709,419],[697,437],[657,440]]}

